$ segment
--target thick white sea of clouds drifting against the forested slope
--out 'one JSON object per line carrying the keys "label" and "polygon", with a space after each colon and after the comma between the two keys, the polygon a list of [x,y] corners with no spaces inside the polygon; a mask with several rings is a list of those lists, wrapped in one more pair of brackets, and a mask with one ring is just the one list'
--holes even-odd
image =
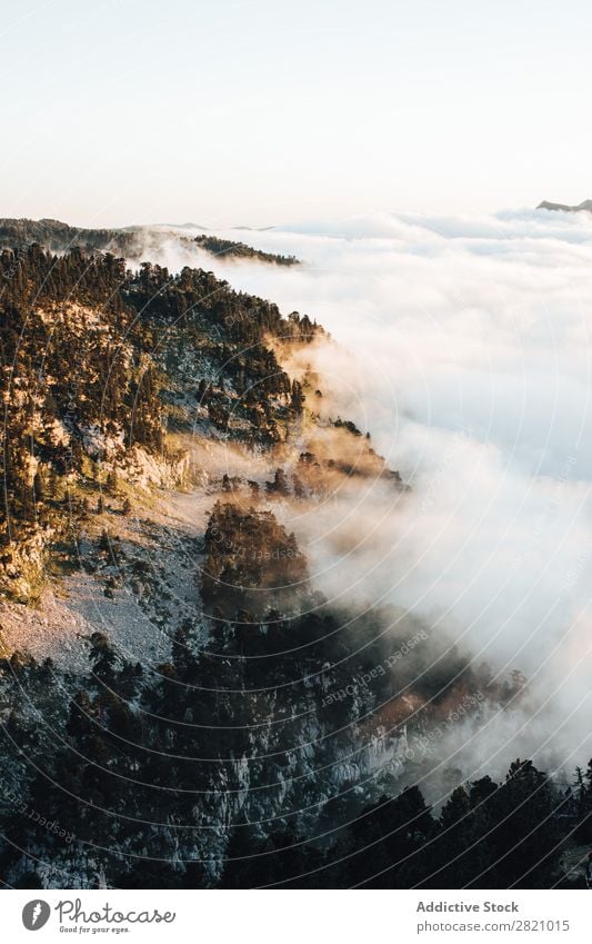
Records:
{"label": "thick white sea of clouds drifting against the forested slope", "polygon": [[[470,744],[472,764],[500,744],[500,767],[519,753],[584,758],[592,218],[381,213],[219,235],[304,265],[205,262],[174,240],[158,261],[204,265],[323,324],[334,340],[293,369],[322,372],[323,408],[370,429],[411,486],[397,507],[378,487],[292,523],[323,592],[395,603],[494,675],[525,672],[536,714],[518,731],[493,718]],[[460,749],[465,735],[454,736]]]}

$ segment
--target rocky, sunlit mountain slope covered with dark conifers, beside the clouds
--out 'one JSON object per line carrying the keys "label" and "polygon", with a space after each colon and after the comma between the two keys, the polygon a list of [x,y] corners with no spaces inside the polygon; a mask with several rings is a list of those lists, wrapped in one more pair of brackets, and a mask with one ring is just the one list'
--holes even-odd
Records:
{"label": "rocky, sunlit mountain slope covered with dark conifers, beside the clouds", "polygon": [[575,801],[516,764],[441,815],[414,786],[455,719],[511,711],[524,679],[311,573],[302,516],[363,488],[405,500],[369,430],[279,355],[322,328],[81,248],[6,249],[0,286],[2,881],[458,885],[498,822],[476,884],[504,884],[516,831],[508,868],[554,881],[584,779]]}

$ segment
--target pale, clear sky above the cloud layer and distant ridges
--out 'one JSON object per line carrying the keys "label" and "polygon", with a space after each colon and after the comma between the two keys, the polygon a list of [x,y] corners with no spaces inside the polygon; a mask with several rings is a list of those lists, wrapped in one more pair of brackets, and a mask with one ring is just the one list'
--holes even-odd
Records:
{"label": "pale, clear sky above the cloud layer and distant ridges", "polygon": [[0,0],[0,216],[283,225],[580,202],[580,0]]}

